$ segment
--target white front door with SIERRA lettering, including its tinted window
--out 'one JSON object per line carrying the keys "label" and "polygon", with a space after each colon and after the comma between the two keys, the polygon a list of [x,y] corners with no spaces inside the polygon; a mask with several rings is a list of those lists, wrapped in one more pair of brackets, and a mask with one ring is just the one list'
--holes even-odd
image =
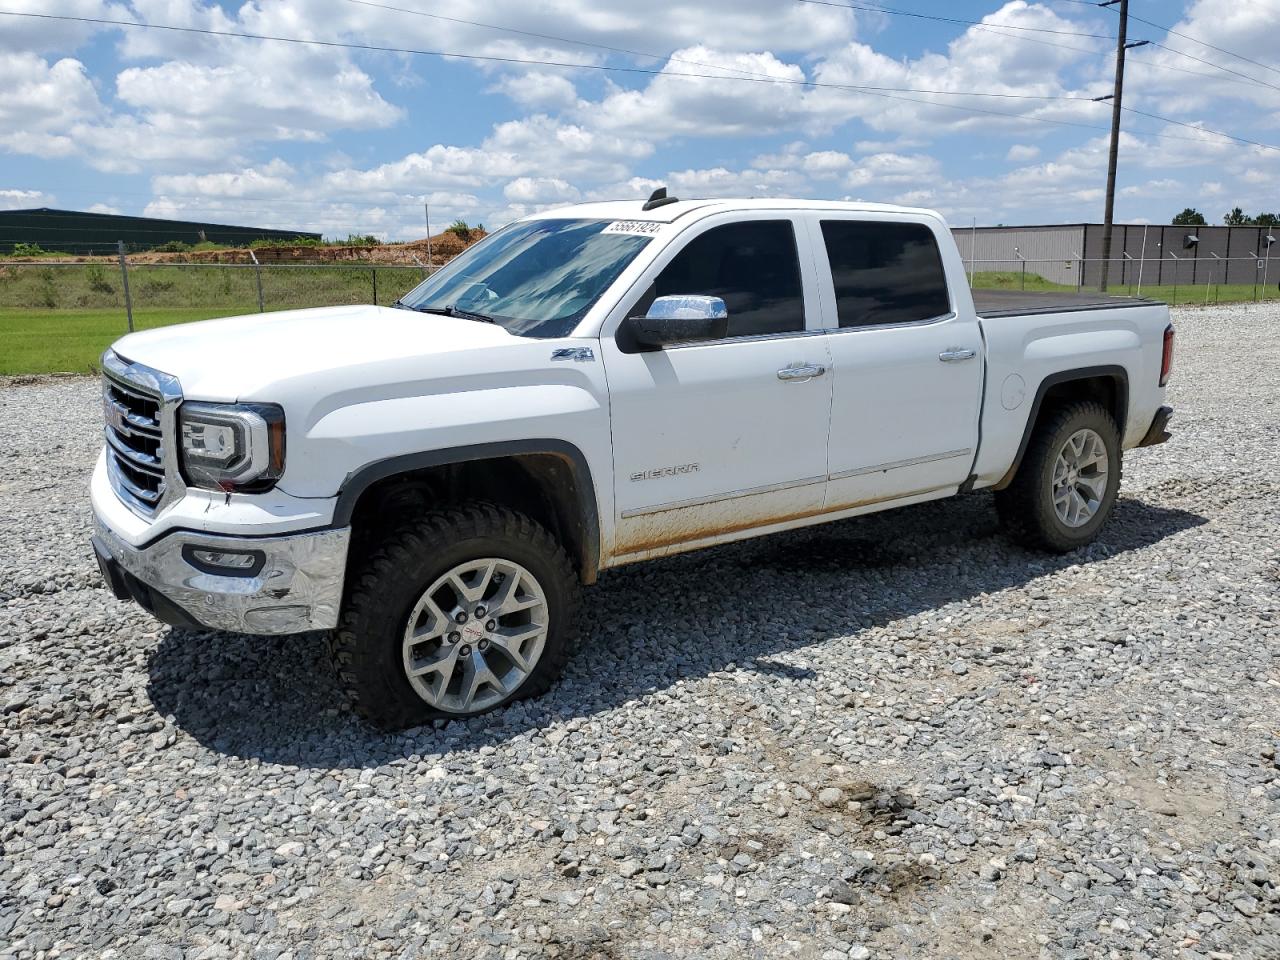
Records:
{"label": "white front door with SIERRA lettering, including its tinted window", "polygon": [[[740,215],[737,215],[740,218]],[[612,562],[739,539],[822,511],[832,375],[808,234],[786,214],[708,218],[634,288],[600,340],[614,466]],[[804,265],[804,266],[803,266]],[[723,339],[640,352],[658,296],[719,297]]]}

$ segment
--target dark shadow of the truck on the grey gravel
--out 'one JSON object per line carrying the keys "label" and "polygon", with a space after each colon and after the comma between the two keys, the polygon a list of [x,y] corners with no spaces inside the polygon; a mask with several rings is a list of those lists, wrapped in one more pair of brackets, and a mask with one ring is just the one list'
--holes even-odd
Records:
{"label": "dark shadow of the truck on the grey gravel", "polygon": [[833,637],[867,643],[870,627],[1204,522],[1121,498],[1098,543],[1059,557],[998,536],[991,498],[974,495],[623,567],[588,591],[579,648],[549,694],[439,727],[383,733],[355,719],[319,635],[169,630],[150,659],[148,694],[161,716],[230,756],[333,769],[471,751],[731,664],[804,682],[814,669],[772,658]]}

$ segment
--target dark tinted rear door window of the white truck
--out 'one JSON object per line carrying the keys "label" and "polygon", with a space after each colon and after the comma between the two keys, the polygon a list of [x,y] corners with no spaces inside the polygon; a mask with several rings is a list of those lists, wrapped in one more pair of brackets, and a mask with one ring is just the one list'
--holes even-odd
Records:
{"label": "dark tinted rear door window of the white truck", "polygon": [[933,232],[924,224],[823,220],[841,326],[909,324],[951,311]]}

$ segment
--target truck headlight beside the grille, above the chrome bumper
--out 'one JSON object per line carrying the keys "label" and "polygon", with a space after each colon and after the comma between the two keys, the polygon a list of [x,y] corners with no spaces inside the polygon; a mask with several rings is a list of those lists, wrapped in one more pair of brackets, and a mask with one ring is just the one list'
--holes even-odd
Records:
{"label": "truck headlight beside the grille, above the chrome bumper", "polygon": [[183,403],[182,472],[206,490],[269,490],[284,472],[284,411],[273,403]]}

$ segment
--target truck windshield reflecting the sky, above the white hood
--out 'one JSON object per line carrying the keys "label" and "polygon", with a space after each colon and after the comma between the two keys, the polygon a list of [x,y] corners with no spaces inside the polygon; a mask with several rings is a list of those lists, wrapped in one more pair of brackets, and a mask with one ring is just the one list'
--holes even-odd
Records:
{"label": "truck windshield reflecting the sky, above the white hood", "polygon": [[485,237],[399,306],[489,320],[520,337],[567,337],[648,237],[612,220],[527,220]]}

